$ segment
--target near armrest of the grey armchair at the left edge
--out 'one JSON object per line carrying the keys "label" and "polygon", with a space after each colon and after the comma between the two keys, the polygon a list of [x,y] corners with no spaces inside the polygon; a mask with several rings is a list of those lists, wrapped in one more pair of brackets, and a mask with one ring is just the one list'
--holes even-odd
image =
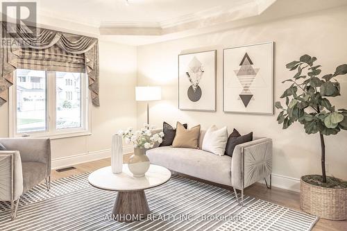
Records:
{"label": "near armrest of the grey armchair at the left edge", "polygon": [[18,151],[0,151],[0,200],[17,200],[23,194],[22,160]]}

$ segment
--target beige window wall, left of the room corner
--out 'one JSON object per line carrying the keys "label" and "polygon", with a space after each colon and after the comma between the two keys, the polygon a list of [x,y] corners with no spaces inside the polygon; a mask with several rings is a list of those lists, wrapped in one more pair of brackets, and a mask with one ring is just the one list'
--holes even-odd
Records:
{"label": "beige window wall, left of the room corner", "polygon": [[[136,126],[136,48],[99,40],[99,49],[101,107],[91,106],[92,135],[52,140],[53,166],[109,155],[111,135],[121,128]],[[7,137],[8,103],[0,107],[0,117],[0,137]]]}

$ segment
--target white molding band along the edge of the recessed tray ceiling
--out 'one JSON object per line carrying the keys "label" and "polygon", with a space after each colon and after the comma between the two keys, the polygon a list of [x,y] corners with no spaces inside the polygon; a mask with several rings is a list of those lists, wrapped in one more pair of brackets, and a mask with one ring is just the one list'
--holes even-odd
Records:
{"label": "white molding band along the edge of the recessed tray ceiling", "polygon": [[[40,18],[43,21],[54,20],[71,24],[80,24],[84,27],[96,28],[99,35],[167,35],[231,22],[237,19],[260,15],[266,8],[277,0],[244,0],[242,3],[230,3],[223,6],[215,6],[207,10],[193,12],[162,22],[99,22],[88,17],[76,17],[76,15],[61,15],[57,12],[40,10]],[[94,29],[93,29],[94,31]]]}

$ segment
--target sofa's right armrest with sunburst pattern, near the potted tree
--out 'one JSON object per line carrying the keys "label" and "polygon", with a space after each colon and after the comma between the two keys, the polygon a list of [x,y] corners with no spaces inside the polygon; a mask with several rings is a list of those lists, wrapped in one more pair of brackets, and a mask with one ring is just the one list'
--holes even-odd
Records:
{"label": "sofa's right armrest with sunburst pattern, near the potted tree", "polygon": [[231,183],[244,189],[272,172],[272,139],[262,138],[235,146],[231,161]]}

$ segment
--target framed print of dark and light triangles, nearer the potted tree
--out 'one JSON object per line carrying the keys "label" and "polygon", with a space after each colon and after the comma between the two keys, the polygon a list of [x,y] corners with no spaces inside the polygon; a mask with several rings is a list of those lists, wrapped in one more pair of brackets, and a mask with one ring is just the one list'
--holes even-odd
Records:
{"label": "framed print of dark and light triangles, nearer the potted tree", "polygon": [[273,42],[223,50],[223,111],[273,114]]}

